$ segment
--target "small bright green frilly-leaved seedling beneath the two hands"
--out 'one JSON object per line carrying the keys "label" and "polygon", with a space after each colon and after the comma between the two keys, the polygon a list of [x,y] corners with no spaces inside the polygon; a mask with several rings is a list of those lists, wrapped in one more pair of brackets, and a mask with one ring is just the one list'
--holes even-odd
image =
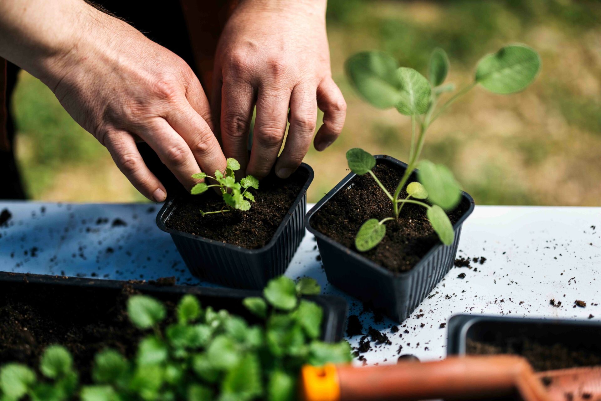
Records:
{"label": "small bright green frilly-leaved seedling beneath the two hands", "polygon": [[192,187],[190,191],[192,195],[202,194],[212,187],[219,187],[219,191],[221,191],[221,195],[225,202],[225,206],[222,207],[221,210],[215,210],[214,212],[203,212],[203,210],[201,210],[200,212],[203,216],[211,215],[213,213],[230,212],[234,209],[244,211],[251,209],[251,202],[255,201],[255,196],[251,192],[248,192],[248,189],[259,189],[259,180],[248,175],[241,179],[240,182],[236,182],[234,171],[237,170],[240,170],[240,163],[237,162],[236,159],[229,158],[227,159],[225,174],[221,173],[219,170],[215,171],[215,177],[207,176],[206,173],[192,174],[192,178],[194,179],[201,180],[210,178],[216,182],[216,184],[211,185],[207,185],[207,183],[204,182],[198,183]]}

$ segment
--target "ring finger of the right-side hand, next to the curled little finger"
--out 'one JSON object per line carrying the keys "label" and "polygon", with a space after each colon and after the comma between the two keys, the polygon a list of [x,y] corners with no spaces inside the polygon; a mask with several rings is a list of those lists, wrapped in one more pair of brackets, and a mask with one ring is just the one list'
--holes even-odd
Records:
{"label": "ring finger of the right-side hand, next to the curled little finger", "polygon": [[275,164],[275,173],[288,178],[301,165],[307,155],[317,123],[317,98],[315,87],[298,85],[290,96],[290,127],[284,150]]}

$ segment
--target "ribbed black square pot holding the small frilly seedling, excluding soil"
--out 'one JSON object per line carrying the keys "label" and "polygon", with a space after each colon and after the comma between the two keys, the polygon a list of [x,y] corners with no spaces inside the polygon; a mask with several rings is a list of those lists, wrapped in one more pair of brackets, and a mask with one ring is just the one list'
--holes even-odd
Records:
{"label": "ribbed black square pot holding the small frilly seedling, excluding soil", "polygon": [[177,207],[177,197],[165,202],[156,224],[171,234],[182,259],[195,276],[228,287],[262,289],[271,278],[284,274],[305,236],[303,217],[307,212],[307,188],[313,181],[313,168],[302,163],[299,170],[307,174],[307,181],[273,238],[263,248],[247,249],[166,227]]}

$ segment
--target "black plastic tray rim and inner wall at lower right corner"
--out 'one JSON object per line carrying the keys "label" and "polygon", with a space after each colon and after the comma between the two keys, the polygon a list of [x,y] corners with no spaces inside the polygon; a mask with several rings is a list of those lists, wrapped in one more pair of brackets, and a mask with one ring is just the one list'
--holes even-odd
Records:
{"label": "black plastic tray rim and inner wall at lower right corner", "polygon": [[522,336],[549,346],[560,343],[570,349],[601,355],[601,322],[594,320],[459,314],[449,319],[447,327],[447,355],[466,355],[468,338],[491,343],[498,338]]}

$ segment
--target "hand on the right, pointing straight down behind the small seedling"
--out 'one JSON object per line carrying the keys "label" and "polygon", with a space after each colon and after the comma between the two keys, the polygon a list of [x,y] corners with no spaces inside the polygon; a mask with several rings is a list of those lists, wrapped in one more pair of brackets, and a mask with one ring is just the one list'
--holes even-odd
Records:
{"label": "hand on the right, pointing straight down behind the small seedling", "polygon": [[[279,177],[290,176],[309,150],[318,106],[324,115],[315,148],[324,150],[340,135],[346,103],[332,81],[325,10],[325,0],[242,0],[225,25],[211,104],[225,156],[248,174],[262,178],[275,164]],[[287,119],[290,129],[278,158]]]}

